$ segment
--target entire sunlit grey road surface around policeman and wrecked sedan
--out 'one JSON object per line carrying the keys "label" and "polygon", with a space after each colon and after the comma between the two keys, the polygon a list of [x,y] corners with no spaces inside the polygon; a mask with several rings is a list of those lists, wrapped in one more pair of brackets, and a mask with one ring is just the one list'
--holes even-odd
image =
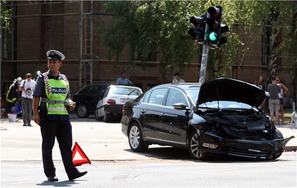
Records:
{"label": "entire sunlit grey road surface around policeman and wrecked sedan", "polygon": [[48,182],[41,160],[39,127],[1,120],[1,187],[296,187],[296,152],[277,160],[215,158],[194,161],[187,150],[150,146],[146,153],[130,150],[120,124],[72,117],[73,141],[92,164],[89,173],[68,181],[58,144],[53,150],[58,182]]}

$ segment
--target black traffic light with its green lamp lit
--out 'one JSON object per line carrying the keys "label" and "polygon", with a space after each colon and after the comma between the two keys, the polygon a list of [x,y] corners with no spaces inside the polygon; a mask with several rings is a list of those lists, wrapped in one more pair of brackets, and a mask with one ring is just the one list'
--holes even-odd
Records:
{"label": "black traffic light with its green lamp lit", "polygon": [[227,25],[221,24],[223,7],[217,5],[215,7],[208,7],[207,12],[210,14],[210,18],[206,23],[209,26],[206,32],[207,44],[210,49],[219,47],[219,45],[227,42],[226,37],[221,37],[221,33],[229,31]]}

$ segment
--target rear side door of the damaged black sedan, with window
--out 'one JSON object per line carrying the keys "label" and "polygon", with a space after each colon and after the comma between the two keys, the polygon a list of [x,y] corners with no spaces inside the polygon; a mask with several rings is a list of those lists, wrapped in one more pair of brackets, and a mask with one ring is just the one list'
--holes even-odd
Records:
{"label": "rear side door of the damaged black sedan, with window", "polygon": [[144,95],[139,105],[142,133],[146,139],[156,139],[160,132],[160,114],[168,88],[157,88]]}

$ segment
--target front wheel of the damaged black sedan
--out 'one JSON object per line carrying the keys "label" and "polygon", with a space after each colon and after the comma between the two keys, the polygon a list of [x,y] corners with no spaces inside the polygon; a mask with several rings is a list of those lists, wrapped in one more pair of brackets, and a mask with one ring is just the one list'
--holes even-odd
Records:
{"label": "front wheel of the damaged black sedan", "polygon": [[198,138],[198,133],[196,130],[190,133],[189,140],[188,140],[188,148],[189,148],[190,156],[195,160],[206,160],[208,157],[205,154],[200,153],[198,150],[197,138]]}

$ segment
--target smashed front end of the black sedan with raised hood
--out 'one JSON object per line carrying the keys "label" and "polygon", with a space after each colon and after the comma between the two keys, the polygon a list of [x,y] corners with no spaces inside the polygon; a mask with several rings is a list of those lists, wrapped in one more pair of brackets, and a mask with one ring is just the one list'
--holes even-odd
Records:
{"label": "smashed front end of the black sedan with raised hood", "polygon": [[293,136],[284,139],[270,115],[258,107],[269,94],[249,83],[219,78],[200,89],[196,112],[189,125],[190,154],[205,159],[211,154],[276,159]]}

